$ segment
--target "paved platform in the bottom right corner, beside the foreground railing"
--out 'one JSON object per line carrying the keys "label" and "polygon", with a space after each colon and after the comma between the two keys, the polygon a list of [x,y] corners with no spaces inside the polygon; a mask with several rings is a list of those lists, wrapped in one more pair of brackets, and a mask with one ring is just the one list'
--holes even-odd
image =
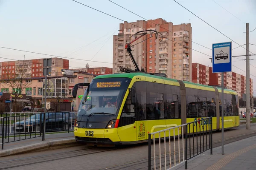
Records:
{"label": "paved platform in the bottom right corner, beside the foreground railing", "polygon": [[[185,170],[180,164],[175,170]],[[256,136],[221,146],[196,156],[188,161],[188,170],[256,170]]]}

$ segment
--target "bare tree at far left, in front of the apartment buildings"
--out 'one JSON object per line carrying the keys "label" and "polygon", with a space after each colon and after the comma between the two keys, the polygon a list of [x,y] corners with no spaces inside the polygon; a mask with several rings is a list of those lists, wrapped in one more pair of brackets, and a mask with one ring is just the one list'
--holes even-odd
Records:
{"label": "bare tree at far left, in front of the apartment buildings", "polygon": [[14,111],[17,111],[17,97],[19,97],[24,91],[27,95],[32,95],[32,84],[31,80],[31,63],[24,61],[17,61],[15,66],[9,66],[9,70],[6,71],[6,84],[3,85],[5,88],[12,89],[12,95],[15,97],[14,100]]}

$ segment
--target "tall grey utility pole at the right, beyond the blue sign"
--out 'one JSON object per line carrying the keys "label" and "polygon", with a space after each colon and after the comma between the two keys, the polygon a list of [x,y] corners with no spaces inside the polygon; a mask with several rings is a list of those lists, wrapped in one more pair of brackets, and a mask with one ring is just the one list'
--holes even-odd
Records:
{"label": "tall grey utility pole at the right, beyond the blue sign", "polygon": [[249,23],[246,23],[246,129],[250,129]]}

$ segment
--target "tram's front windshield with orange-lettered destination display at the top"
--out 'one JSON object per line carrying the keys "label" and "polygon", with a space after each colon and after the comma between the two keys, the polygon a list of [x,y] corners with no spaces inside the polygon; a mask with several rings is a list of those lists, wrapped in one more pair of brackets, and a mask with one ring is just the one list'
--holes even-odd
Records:
{"label": "tram's front windshield with orange-lettered destination display at the top", "polygon": [[78,116],[117,116],[130,82],[128,78],[94,79],[82,98]]}

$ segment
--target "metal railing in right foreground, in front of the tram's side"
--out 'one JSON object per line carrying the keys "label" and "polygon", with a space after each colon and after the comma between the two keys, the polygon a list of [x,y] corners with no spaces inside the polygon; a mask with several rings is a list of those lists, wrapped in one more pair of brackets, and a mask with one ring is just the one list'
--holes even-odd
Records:
{"label": "metal railing in right foreground, in front of the tram's side", "polygon": [[[159,130],[148,134],[148,170],[151,170],[151,142],[153,141],[154,170],[171,168],[192,159],[206,150],[212,154],[212,117],[198,119],[183,125]],[[208,129],[207,129],[208,126]],[[185,132],[184,132],[185,130]],[[208,134],[207,134],[208,133]],[[207,138],[207,136],[209,137]],[[184,139],[185,136],[185,139]],[[177,139],[176,139],[177,138]],[[168,139],[168,140],[167,140]],[[196,141],[195,141],[196,139]],[[200,139],[200,141],[198,141]],[[158,140],[158,142],[156,142]],[[161,146],[161,140],[163,144]],[[166,144],[167,140],[167,144]],[[209,142],[208,142],[209,140]],[[191,142],[192,141],[192,142]],[[156,146],[158,143],[158,146]],[[185,147],[184,147],[185,143]],[[193,145],[192,145],[193,144]],[[189,145],[189,148],[188,148]],[[208,146],[209,145],[209,146]],[[157,153],[158,152],[158,153]],[[163,154],[162,154],[163,153]]]}

